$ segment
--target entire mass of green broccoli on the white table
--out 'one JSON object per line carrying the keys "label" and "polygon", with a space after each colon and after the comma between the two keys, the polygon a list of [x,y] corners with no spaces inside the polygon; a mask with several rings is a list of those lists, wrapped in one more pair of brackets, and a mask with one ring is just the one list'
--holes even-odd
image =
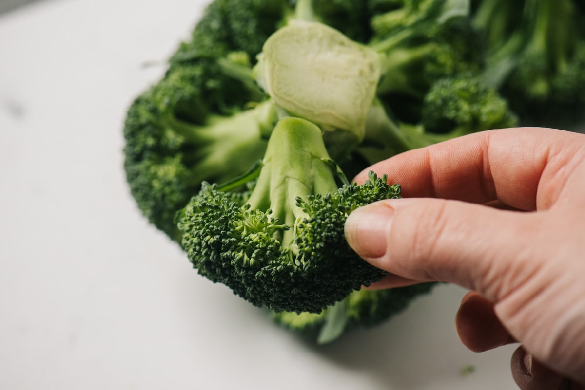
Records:
{"label": "entire mass of green broccoli on the white table", "polygon": [[360,288],[384,273],[347,246],[343,222],[400,191],[345,175],[535,111],[585,112],[583,8],[214,0],[129,106],[130,191],[199,273],[286,328],[331,342],[380,323],[432,284]]}

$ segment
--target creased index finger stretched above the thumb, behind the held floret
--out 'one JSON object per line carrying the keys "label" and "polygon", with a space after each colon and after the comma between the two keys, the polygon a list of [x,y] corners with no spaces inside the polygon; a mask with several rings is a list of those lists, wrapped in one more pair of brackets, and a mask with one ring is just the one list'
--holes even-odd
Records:
{"label": "creased index finger stretched above the thumb, behind the held floret", "polygon": [[394,156],[355,181],[364,182],[367,171],[374,170],[401,184],[404,197],[500,200],[521,210],[544,209],[559,196],[567,156],[582,152],[583,139],[583,134],[545,128],[486,131]]}

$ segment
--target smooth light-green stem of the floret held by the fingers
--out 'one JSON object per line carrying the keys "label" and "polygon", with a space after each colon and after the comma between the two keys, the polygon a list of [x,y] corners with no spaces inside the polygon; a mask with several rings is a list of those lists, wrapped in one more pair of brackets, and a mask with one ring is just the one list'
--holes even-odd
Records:
{"label": "smooth light-green stem of the floret held by the fingers", "polygon": [[[297,197],[338,189],[321,129],[307,120],[285,117],[278,121],[262,163],[247,204],[252,209],[271,210],[271,217],[289,227],[308,216],[297,206]],[[283,243],[290,245],[293,236],[293,229],[285,231]]]}

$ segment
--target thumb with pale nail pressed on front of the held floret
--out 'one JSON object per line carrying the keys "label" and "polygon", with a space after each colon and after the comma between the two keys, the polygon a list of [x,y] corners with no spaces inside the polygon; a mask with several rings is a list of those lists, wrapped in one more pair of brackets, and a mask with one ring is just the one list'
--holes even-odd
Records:
{"label": "thumb with pale nail pressed on front of the held floret", "polygon": [[358,208],[345,232],[374,266],[414,281],[459,284],[495,302],[529,278],[541,257],[529,253],[536,250],[535,218],[541,214],[455,200],[393,199]]}

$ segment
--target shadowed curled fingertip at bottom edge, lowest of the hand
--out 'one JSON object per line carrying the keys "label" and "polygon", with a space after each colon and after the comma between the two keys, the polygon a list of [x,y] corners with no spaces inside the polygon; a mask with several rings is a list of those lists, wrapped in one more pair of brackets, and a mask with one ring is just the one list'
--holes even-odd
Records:
{"label": "shadowed curled fingertip at bottom edge, lowest of the hand", "polygon": [[569,390],[562,375],[545,367],[520,346],[512,355],[512,377],[521,390]]}

